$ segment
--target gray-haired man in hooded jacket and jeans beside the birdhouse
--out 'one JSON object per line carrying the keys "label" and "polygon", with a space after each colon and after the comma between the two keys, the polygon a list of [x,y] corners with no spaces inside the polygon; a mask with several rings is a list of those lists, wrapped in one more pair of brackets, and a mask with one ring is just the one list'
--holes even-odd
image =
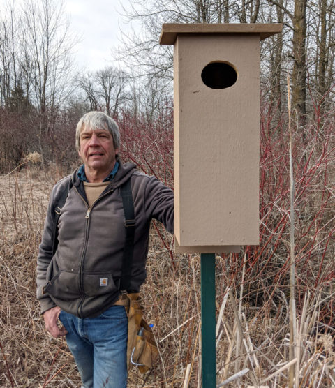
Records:
{"label": "gray-haired man in hooded jacket and jeans beside the birdhouse", "polygon": [[[126,387],[128,333],[123,294],[138,292],[146,277],[151,218],[173,231],[173,193],[133,163],[121,163],[119,129],[103,112],[84,114],[75,138],[84,164],[52,190],[38,253],[37,296],[47,331],[54,338],[66,336],[82,386],[121,388]],[[131,244],[125,225],[127,183],[135,213]],[[64,191],[53,253],[55,211]],[[129,245],[132,264],[125,269]]]}

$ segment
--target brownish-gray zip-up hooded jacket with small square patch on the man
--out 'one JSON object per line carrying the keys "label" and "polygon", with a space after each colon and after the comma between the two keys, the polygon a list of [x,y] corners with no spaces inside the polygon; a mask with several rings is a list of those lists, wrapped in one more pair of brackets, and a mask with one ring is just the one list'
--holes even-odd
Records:
{"label": "brownish-gray zip-up hooded jacket with small square patch on the man", "polygon": [[[54,208],[72,179],[59,216],[59,244],[52,256]],[[87,204],[77,170],[53,188],[42,242],[38,251],[37,297],[42,313],[54,306],[80,318],[100,315],[119,298],[119,279],[124,251],[124,209],[120,186],[131,179],[135,209],[135,240],[131,291],[138,292],[146,277],[149,227],[152,218],[173,232],[173,192],[155,177],[120,162],[105,191]]]}

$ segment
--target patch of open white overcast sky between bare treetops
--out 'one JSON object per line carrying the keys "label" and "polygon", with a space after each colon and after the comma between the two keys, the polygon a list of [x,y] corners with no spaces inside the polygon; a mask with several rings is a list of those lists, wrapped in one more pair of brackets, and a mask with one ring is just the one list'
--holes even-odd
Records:
{"label": "patch of open white overcast sky between bare treetops", "polygon": [[79,68],[98,70],[112,64],[112,49],[120,44],[120,29],[130,30],[130,25],[125,24],[120,15],[121,3],[131,6],[129,0],[64,1],[70,28],[82,38],[75,53]]}

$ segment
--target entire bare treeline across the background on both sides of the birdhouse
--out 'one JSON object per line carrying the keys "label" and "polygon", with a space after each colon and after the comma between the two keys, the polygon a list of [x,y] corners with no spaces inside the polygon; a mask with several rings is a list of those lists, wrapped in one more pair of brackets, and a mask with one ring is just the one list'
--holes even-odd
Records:
{"label": "entire bare treeline across the background on both sides of the birdhouse", "polygon": [[261,50],[262,100],[275,118],[272,129],[287,112],[287,73],[293,123],[304,130],[314,115],[322,126],[334,108],[334,1],[133,0],[126,16],[141,33],[124,36],[117,53],[124,67],[86,73],[75,68],[77,39],[61,2],[8,5],[0,13],[0,172],[32,151],[43,165],[70,163],[75,123],[87,110],[147,128],[169,117],[172,47],[158,44],[164,22],[283,23],[283,33]]}

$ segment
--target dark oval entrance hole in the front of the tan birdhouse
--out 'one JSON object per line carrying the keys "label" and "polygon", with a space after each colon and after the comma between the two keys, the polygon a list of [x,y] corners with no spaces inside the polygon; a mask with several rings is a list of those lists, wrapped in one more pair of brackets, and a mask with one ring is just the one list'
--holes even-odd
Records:
{"label": "dark oval entrance hole in the front of the tan birdhouse", "polygon": [[204,66],[201,79],[211,89],[225,89],[237,81],[237,72],[228,62],[216,61]]}

